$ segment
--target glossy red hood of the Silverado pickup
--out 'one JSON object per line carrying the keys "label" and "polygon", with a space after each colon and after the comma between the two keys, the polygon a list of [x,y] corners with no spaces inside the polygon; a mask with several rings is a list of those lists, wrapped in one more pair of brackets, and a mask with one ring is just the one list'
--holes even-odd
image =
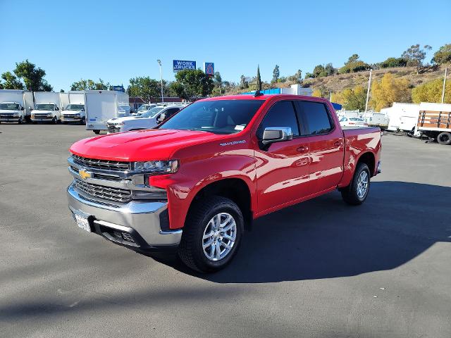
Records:
{"label": "glossy red hood of the Silverado pickup", "polygon": [[137,130],[82,139],[70,152],[111,161],[168,160],[175,150],[229,136],[191,130]]}

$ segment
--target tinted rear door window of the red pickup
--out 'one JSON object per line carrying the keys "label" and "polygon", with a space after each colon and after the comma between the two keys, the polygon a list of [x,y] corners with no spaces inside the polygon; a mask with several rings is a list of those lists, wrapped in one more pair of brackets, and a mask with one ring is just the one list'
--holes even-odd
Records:
{"label": "tinted rear door window of the red pickup", "polygon": [[307,123],[307,134],[325,134],[332,130],[328,110],[320,102],[298,101],[297,104]]}

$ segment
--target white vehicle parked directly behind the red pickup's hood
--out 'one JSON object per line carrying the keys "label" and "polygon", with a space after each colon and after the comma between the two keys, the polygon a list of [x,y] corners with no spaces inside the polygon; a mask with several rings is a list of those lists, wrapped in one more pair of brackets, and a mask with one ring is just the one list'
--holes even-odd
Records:
{"label": "white vehicle parked directly behind the red pickup's hood", "polygon": [[129,130],[152,129],[159,123],[180,111],[183,106],[156,106],[140,116],[112,118],[108,120],[108,133],[128,132]]}

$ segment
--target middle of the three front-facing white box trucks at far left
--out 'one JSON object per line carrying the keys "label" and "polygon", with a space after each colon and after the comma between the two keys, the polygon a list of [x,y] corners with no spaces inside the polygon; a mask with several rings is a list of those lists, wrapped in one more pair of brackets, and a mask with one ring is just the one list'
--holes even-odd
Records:
{"label": "middle of the three front-facing white box trucks at far left", "polygon": [[61,93],[35,92],[35,108],[31,120],[37,122],[58,123],[60,121]]}

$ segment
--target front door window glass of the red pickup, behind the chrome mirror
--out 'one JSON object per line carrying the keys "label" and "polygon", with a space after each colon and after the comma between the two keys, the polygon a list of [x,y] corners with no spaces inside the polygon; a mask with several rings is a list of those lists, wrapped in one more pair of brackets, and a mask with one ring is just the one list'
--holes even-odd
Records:
{"label": "front door window glass of the red pickup, behind the chrome mirror", "polygon": [[257,130],[259,139],[263,138],[263,132],[266,127],[291,127],[293,136],[299,136],[299,127],[292,101],[276,102],[269,108]]}

